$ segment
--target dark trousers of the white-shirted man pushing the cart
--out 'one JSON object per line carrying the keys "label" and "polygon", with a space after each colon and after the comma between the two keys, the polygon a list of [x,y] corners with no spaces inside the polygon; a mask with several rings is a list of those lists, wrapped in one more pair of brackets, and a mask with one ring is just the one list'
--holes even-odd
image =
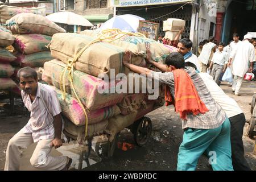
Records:
{"label": "dark trousers of the white-shirted man pushing the cart", "polygon": [[232,164],[234,171],[251,171],[245,159],[245,151],[243,149],[243,127],[245,126],[245,114],[241,113],[229,118],[231,123],[231,148],[232,148]]}

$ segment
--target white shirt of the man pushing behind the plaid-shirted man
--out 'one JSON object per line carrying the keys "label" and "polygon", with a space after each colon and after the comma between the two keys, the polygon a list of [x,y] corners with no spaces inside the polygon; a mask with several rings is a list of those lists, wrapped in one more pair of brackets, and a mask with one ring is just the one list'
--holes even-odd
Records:
{"label": "white shirt of the man pushing behind the plaid-shirted man", "polygon": [[243,113],[237,102],[223,92],[208,73],[199,73],[214,100],[222,107],[228,118]]}

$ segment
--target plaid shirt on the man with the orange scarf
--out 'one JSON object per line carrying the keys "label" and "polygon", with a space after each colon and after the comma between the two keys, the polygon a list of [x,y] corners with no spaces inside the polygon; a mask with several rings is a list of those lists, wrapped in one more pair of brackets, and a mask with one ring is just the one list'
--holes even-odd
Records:
{"label": "plaid shirt on the man with the orange scarf", "polygon": [[[184,70],[189,76],[191,76],[201,101],[204,102],[209,111],[205,114],[187,114],[187,120],[181,119],[182,128],[187,129],[189,127],[192,129],[216,129],[217,127],[221,126],[222,123],[224,123],[226,119],[225,112],[221,109],[221,106],[214,101],[209,90],[205,86],[204,81],[200,75],[195,72],[195,69],[187,67]],[[151,75],[160,83],[167,84],[170,87],[172,96],[175,96],[174,74],[172,72],[161,73],[152,71]]]}

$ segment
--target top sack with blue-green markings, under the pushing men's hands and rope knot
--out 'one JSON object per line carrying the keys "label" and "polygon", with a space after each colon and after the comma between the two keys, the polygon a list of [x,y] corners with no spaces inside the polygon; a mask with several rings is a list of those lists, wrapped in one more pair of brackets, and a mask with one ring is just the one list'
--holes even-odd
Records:
{"label": "top sack with blue-green markings, under the pushing men's hands and rope knot", "polygon": [[[85,30],[80,32],[82,35],[92,36],[97,38],[99,34],[94,30]],[[112,35],[111,33],[109,35]],[[156,62],[164,63],[166,57],[170,54],[170,51],[163,44],[156,42],[155,40],[143,38],[141,36],[130,36],[122,34],[115,37],[117,40],[110,42],[114,46],[122,47],[123,49],[128,49],[137,56],[146,56],[146,43],[150,44],[150,51],[152,53],[152,58]],[[104,40],[103,40],[104,41]]]}

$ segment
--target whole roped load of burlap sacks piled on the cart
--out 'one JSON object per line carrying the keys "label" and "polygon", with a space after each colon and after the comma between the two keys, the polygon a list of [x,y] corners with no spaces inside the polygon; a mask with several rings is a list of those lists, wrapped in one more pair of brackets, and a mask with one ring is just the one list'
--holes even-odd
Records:
{"label": "whole roped load of burlap sacks piled on the cart", "polygon": [[[60,33],[52,37],[49,44],[51,55],[55,60],[44,64],[42,79],[56,89],[60,100],[61,109],[65,115],[65,131],[82,142],[85,135],[85,114],[77,101],[75,92],[68,81],[68,72],[65,76],[65,99],[61,97],[60,91],[61,72],[77,53],[95,40],[95,31],[83,31],[81,34]],[[147,94],[125,94],[111,93],[115,85],[122,81],[115,81],[114,76],[118,73],[130,73],[123,66],[122,59],[126,49],[133,52],[131,62],[146,67],[144,56],[146,55],[146,44],[150,43],[150,49],[155,60],[164,63],[170,53],[162,44],[138,36],[125,35],[113,42],[97,42],[90,45],[81,53],[79,59],[73,63],[73,85],[82,105],[86,108],[88,115],[88,136],[107,132],[110,141],[114,135],[125,127],[131,125],[136,119],[154,110],[156,102],[148,101]],[[110,74],[114,69],[114,74]],[[105,73],[108,78],[102,80],[98,75]],[[100,93],[98,88],[104,85],[109,93]],[[127,85],[129,88],[129,85]],[[163,105],[163,102],[160,104]]]}

